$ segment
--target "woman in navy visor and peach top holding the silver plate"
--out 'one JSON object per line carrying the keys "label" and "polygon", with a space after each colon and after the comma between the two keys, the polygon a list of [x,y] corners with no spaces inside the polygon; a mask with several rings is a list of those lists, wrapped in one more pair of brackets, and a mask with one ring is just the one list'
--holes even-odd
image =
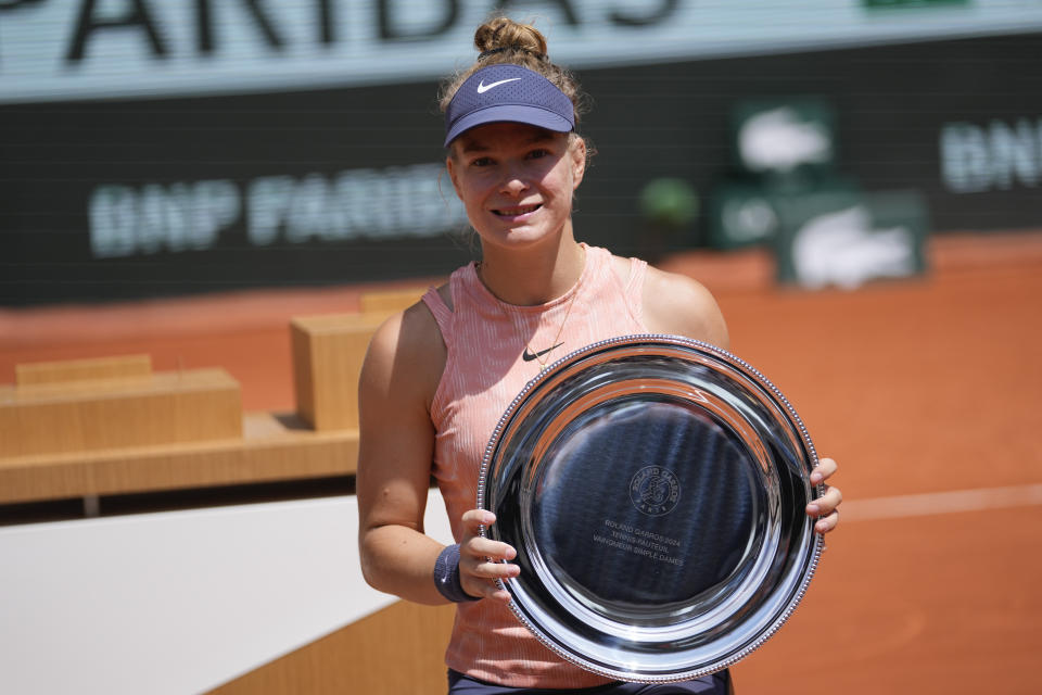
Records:
{"label": "woman in navy visor and peach top holding the silver plate", "polygon": [[[474,43],[476,62],[446,83],[442,108],[445,164],[481,261],[389,319],[369,346],[357,480],[365,577],[408,601],[457,603],[445,656],[452,695],[732,692],[726,670],[652,685],[582,670],[521,626],[495,583],[520,570],[509,561],[514,548],[479,534],[495,517],[474,508],[478,478],[525,383],[568,352],[618,336],[671,333],[723,349],[728,340],[698,282],[576,240],[572,200],[590,154],[576,131],[583,96],[547,58],[543,35],[498,17]],[[822,459],[811,481],[835,471]],[[432,476],[458,542],[448,547],[423,533]],[[828,488],[808,506],[817,532],[836,527],[840,500]]]}

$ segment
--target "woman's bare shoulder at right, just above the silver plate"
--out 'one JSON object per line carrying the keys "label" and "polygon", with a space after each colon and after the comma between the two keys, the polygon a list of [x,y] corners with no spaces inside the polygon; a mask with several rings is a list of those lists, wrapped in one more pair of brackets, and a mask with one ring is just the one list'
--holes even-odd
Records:
{"label": "woman's bare shoulder at right, just above the silver plate", "polygon": [[657,333],[685,336],[727,350],[727,324],[716,300],[686,275],[648,266],[644,280],[644,320]]}

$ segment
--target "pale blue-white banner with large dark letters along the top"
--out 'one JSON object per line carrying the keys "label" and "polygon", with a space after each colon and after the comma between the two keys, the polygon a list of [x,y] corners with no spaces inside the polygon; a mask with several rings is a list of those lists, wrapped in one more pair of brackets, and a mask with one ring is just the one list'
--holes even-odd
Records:
{"label": "pale blue-white banner with large dark letters along the top", "polygon": [[1042,0],[0,0],[0,103],[436,78],[499,8],[573,68],[1042,29]]}

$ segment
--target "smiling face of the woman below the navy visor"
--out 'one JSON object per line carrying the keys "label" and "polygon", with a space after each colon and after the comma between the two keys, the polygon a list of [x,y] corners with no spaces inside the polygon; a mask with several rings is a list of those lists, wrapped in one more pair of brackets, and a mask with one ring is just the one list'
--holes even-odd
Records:
{"label": "smiling face of the woman below the navy visor", "polygon": [[446,165],[482,243],[524,245],[570,232],[585,148],[582,138],[519,123],[456,138]]}

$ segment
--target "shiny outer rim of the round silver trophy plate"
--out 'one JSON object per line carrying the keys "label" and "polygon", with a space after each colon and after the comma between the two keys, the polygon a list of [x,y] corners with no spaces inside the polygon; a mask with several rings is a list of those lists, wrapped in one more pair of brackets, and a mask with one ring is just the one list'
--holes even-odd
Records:
{"label": "shiny outer rim of the round silver trophy plate", "polygon": [[[802,447],[803,465],[801,466],[800,472],[801,478],[805,481],[809,481],[809,471],[818,465],[816,450],[814,448],[814,444],[802,419],[791,406],[789,401],[785,397],[780,390],[774,386],[773,382],[771,382],[765,376],[763,376],[758,369],[752,367],[752,365],[746,361],[710,343],[664,333],[640,333],[611,338],[575,350],[554,362],[546,369],[542,370],[536,377],[530,380],[528,384],[525,384],[525,387],[520,393],[518,393],[518,395],[504,412],[493,430],[492,437],[488,440],[488,444],[485,448],[485,454],[482,459],[478,481],[478,507],[482,509],[490,508],[488,479],[493,470],[493,464],[496,459],[498,446],[504,434],[510,429],[510,427],[514,425],[514,421],[519,418],[519,416],[521,417],[520,421],[523,422],[525,405],[532,397],[537,397],[541,390],[546,387],[546,384],[552,382],[569,369],[574,368],[576,364],[588,361],[590,357],[601,353],[625,351],[627,349],[640,346],[651,351],[657,349],[679,350],[683,352],[698,354],[704,358],[720,363],[726,368],[738,371],[742,377],[755,384],[782,413],[784,419],[786,420],[785,424],[791,430],[789,433],[795,435]],[[580,367],[579,371],[582,371],[582,369],[583,367]],[[806,484],[809,485],[809,482]],[[816,491],[817,495],[823,494],[825,491],[824,484],[809,486],[813,491]],[[480,528],[480,533],[484,536],[488,536],[488,528],[482,526]],[[517,540],[513,540],[513,542],[517,545]],[[802,601],[817,569],[823,548],[824,542],[821,534],[813,532],[813,529],[811,529],[809,540],[804,540],[797,551],[789,551],[790,555],[793,553],[805,554],[805,558],[801,565],[802,569],[799,572],[798,585],[783,592],[786,594],[786,597],[775,602],[776,606],[774,606],[774,608],[777,610],[776,615],[771,618],[766,628],[755,631],[751,641],[741,646],[739,649],[723,657],[715,658],[711,662],[700,665],[692,664],[687,667],[670,668],[665,671],[656,669],[634,669],[632,666],[633,661],[625,660],[624,656],[620,657],[614,662],[606,662],[609,661],[609,659],[606,659],[602,656],[595,659],[593,657],[579,654],[575,649],[562,646],[561,641],[551,634],[548,634],[548,631],[554,631],[555,626],[538,624],[538,620],[530,617],[532,615],[532,611],[530,610],[531,606],[525,605],[529,599],[524,592],[513,591],[511,586],[511,580],[496,580],[496,583],[499,589],[506,590],[510,594],[511,598],[509,607],[518,621],[524,626],[544,646],[549,648],[566,661],[571,662],[586,671],[613,680],[644,683],[669,683],[696,679],[723,670],[737,664],[759,649],[782,628],[783,624],[788,621],[792,612]],[[777,591],[775,590],[770,595],[773,596],[776,593]],[[558,624],[557,628],[560,629],[560,624]]]}

